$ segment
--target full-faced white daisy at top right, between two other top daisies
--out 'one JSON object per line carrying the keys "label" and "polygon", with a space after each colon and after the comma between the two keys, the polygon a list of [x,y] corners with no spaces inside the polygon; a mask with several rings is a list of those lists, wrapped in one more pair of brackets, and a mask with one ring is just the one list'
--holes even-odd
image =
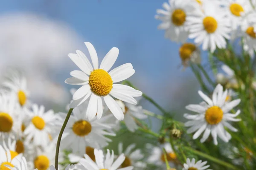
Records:
{"label": "full-faced white daisy at top right, between two other top daisies", "polygon": [[216,3],[207,1],[203,3],[202,10],[196,10],[187,17],[189,38],[194,39],[202,49],[215,51],[216,47],[225,48],[226,39],[230,39],[230,23],[226,12]]}

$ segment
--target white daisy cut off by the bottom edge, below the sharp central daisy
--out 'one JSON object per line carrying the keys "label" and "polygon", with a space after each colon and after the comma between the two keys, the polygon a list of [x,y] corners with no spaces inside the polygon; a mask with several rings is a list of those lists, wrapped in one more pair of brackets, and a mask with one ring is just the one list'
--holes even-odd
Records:
{"label": "white daisy cut off by the bottom edge, below the sharp central daisy", "polygon": [[110,154],[107,150],[106,157],[103,155],[102,150],[94,149],[94,155],[96,162],[94,162],[88,155],[84,155],[85,159],[82,159],[79,163],[85,167],[86,170],[133,170],[133,166],[119,168],[125,161],[125,155],[121,154],[116,161],[114,161],[114,152]]}

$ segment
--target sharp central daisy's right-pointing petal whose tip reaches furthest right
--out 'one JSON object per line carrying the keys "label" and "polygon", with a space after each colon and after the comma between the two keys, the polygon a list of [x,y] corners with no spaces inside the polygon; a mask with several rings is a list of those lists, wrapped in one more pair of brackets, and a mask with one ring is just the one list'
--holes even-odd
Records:
{"label": "sharp central daisy's right-pointing petal whose tip reaches furthest right", "polygon": [[113,84],[113,88],[112,88],[112,91],[116,91],[116,90],[119,90],[121,91],[123,94],[128,94],[130,96],[133,96],[133,97],[139,97],[142,95],[142,92],[141,91],[138,91],[128,85],[121,85],[121,84]]}

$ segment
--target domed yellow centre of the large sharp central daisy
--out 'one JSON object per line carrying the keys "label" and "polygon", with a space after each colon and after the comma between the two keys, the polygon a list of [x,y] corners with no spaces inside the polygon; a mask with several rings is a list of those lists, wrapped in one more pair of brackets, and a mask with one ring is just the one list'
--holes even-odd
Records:
{"label": "domed yellow centre of the large sharp central daisy", "polygon": [[107,71],[97,69],[91,72],[89,85],[94,94],[106,96],[112,89],[113,80]]}

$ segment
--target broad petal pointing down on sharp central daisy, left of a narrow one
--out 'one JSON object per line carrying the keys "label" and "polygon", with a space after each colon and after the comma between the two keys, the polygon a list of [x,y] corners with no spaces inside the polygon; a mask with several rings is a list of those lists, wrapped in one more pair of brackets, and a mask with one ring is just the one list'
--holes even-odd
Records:
{"label": "broad petal pointing down on sharp central daisy, left of a narrow one", "polygon": [[98,96],[96,94],[92,93],[89,103],[88,103],[87,110],[86,110],[87,119],[91,120],[96,116],[97,103],[98,103]]}

